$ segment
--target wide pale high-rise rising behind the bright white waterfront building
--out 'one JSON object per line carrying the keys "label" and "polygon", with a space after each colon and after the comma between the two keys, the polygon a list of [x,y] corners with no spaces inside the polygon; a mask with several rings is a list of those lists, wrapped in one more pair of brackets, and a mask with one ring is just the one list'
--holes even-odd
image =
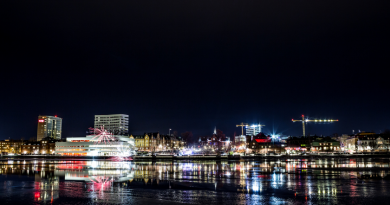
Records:
{"label": "wide pale high-rise rising behind the bright white waterfront building", "polygon": [[114,135],[127,135],[129,133],[129,115],[95,115],[94,127],[100,129],[102,126]]}

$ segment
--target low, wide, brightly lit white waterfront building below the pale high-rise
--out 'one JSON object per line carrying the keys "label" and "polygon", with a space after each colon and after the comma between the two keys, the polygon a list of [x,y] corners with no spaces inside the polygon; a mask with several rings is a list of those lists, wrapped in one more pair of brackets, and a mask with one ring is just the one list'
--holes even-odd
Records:
{"label": "low, wide, brightly lit white waterfront building below the pale high-rise", "polygon": [[124,150],[134,151],[134,139],[113,135],[115,141],[102,143],[95,135],[87,137],[68,137],[66,142],[56,142],[55,153],[65,156],[118,156]]}

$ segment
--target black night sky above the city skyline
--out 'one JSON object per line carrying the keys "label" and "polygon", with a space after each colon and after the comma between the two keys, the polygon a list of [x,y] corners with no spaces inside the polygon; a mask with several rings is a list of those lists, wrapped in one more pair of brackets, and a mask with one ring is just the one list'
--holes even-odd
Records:
{"label": "black night sky above the city skyline", "polygon": [[1,1],[0,139],[38,115],[83,136],[95,114],[130,132],[300,135],[390,128],[389,1]]}

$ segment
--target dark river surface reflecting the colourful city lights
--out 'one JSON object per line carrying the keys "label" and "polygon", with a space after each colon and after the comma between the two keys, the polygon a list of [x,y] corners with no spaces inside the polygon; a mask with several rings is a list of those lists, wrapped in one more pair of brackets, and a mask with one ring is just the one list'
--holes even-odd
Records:
{"label": "dark river surface reflecting the colourful city lights", "polygon": [[[1,204],[372,204],[389,159],[0,161]],[[353,170],[340,169],[353,168]],[[377,179],[361,179],[375,175]],[[387,203],[386,203],[387,204]]]}

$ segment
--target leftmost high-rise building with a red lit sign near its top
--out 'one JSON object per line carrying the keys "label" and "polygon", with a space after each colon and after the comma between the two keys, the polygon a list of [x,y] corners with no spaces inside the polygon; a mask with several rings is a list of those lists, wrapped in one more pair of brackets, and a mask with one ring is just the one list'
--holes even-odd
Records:
{"label": "leftmost high-rise building with a red lit sign near its top", "polygon": [[57,116],[38,116],[37,141],[45,137],[60,140],[62,133],[62,118]]}

